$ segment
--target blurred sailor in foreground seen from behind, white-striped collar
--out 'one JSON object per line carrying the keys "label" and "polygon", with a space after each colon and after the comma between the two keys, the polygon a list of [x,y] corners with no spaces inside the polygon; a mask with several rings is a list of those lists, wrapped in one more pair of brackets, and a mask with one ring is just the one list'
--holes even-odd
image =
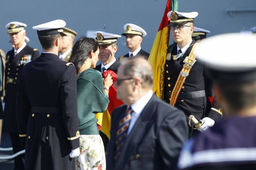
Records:
{"label": "blurred sailor in foreground seen from behind, white-striped collar", "polygon": [[[244,40],[246,44],[241,43]],[[255,42],[256,35],[230,33],[207,38],[197,49],[198,62],[209,68],[226,119],[185,144],[180,169],[255,169],[256,55],[241,60],[241,52],[234,50],[253,49]],[[209,53],[217,48],[218,55]]]}

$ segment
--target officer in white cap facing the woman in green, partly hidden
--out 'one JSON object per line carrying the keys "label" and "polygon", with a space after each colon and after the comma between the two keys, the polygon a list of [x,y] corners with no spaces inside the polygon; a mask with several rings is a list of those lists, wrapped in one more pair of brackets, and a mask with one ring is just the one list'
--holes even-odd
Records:
{"label": "officer in white cap facing the woman in green, partly hidden", "polygon": [[101,63],[96,66],[95,70],[103,73],[105,70],[112,70],[117,73],[117,68],[119,66],[119,61],[115,58],[115,53],[117,51],[117,38],[121,35],[116,35],[106,32],[95,32],[96,41],[100,45],[99,59]]}

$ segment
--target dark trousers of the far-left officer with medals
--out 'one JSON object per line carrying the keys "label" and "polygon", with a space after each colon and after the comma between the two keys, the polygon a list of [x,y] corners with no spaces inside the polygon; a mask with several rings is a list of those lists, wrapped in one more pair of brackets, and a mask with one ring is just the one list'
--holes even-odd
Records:
{"label": "dark trousers of the far-left officer with medals", "polygon": [[[20,144],[19,133],[10,133],[11,141],[12,141],[12,149],[13,153],[17,153],[25,149],[25,147]],[[21,154],[14,158],[14,170],[24,170],[24,161],[25,154]]]}

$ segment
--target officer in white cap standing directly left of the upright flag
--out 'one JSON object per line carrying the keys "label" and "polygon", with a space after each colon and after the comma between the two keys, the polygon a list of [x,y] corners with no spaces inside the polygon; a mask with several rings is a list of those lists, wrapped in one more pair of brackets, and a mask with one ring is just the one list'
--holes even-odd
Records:
{"label": "officer in white cap standing directly left of the upright flag", "polygon": [[125,32],[122,33],[122,35],[126,37],[126,47],[129,49],[129,53],[121,56],[119,61],[121,61],[123,58],[133,56],[142,56],[147,60],[149,53],[140,47],[143,37],[147,35],[147,32],[135,24],[125,24],[124,31]]}

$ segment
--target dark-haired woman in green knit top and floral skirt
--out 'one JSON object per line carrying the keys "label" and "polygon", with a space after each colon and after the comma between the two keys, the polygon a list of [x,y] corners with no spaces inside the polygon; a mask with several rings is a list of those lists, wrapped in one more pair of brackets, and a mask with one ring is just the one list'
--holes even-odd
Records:
{"label": "dark-haired woman in green knit top and floral skirt", "polygon": [[[77,108],[80,132],[80,156],[76,158],[76,170],[106,169],[104,145],[97,127],[96,113],[108,107],[108,90],[112,77],[105,79],[93,70],[99,55],[99,44],[92,38],[81,37],[76,41],[70,56],[77,71]],[[108,88],[107,88],[108,89]]]}

